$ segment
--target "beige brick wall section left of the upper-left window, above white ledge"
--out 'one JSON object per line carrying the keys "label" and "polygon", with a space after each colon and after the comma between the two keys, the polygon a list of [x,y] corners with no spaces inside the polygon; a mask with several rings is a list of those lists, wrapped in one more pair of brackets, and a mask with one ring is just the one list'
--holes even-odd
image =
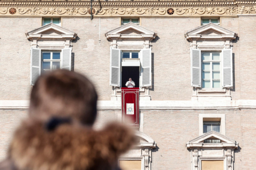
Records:
{"label": "beige brick wall section left of the upper-left window, above white ledge", "polygon": [[41,18],[0,17],[0,100],[28,100],[30,41],[25,33],[42,25]]}

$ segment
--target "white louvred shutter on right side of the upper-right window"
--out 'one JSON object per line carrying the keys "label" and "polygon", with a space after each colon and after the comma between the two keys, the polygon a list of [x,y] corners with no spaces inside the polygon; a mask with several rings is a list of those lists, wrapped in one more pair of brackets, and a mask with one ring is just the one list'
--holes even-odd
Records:
{"label": "white louvred shutter on right side of the upper-right window", "polygon": [[223,61],[223,87],[233,86],[232,73],[232,49],[222,50]]}

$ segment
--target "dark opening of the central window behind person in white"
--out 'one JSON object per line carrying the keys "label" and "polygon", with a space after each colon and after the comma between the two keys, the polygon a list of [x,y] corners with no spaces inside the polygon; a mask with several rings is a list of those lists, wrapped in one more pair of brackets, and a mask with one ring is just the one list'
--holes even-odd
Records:
{"label": "dark opening of the central window behind person in white", "polygon": [[132,78],[135,83],[135,87],[140,86],[140,67],[139,66],[123,66],[122,67],[122,87],[126,87],[125,84]]}

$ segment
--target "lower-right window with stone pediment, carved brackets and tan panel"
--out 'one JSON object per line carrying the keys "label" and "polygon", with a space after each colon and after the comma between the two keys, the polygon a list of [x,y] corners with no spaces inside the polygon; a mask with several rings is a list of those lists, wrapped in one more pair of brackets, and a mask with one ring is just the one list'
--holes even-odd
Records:
{"label": "lower-right window with stone pediment, carved brackets and tan panel", "polygon": [[[209,142],[214,141],[214,142]],[[216,131],[210,131],[187,142],[192,170],[232,170],[234,150],[238,143]]]}

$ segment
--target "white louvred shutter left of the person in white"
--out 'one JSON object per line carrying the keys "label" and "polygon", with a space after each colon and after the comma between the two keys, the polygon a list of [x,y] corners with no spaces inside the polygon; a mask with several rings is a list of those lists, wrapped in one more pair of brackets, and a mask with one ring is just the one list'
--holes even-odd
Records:
{"label": "white louvred shutter left of the person in white", "polygon": [[110,85],[120,87],[120,49],[110,49]]}

